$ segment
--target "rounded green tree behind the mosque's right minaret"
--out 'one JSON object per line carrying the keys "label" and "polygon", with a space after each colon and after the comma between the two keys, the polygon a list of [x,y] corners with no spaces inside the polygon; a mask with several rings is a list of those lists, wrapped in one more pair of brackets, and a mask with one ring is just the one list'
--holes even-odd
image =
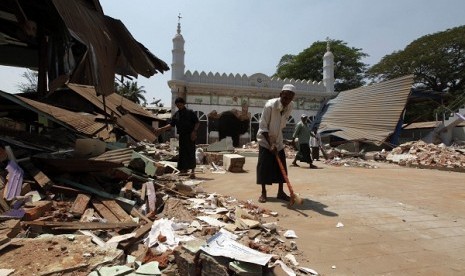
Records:
{"label": "rounded green tree behind the mosque's right minaret", "polygon": [[[342,40],[330,40],[329,43],[335,63],[334,89],[344,91],[364,85],[364,73],[367,65],[361,60],[368,55],[363,53],[361,49],[347,46],[347,43]],[[326,41],[317,41],[298,55],[284,55],[276,66],[277,70],[274,76],[281,79],[321,81],[326,46]]]}

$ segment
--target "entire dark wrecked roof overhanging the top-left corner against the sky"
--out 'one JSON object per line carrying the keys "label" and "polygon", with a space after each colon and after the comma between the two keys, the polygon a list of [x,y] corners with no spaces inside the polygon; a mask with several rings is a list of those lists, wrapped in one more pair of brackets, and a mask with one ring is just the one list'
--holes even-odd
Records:
{"label": "entire dark wrecked roof overhanging the top-left corner against the sky", "polygon": [[[50,91],[66,82],[114,92],[115,74],[153,76],[168,65],[104,15],[98,0],[3,0],[0,65],[47,71]],[[43,74],[45,76],[45,74]]]}

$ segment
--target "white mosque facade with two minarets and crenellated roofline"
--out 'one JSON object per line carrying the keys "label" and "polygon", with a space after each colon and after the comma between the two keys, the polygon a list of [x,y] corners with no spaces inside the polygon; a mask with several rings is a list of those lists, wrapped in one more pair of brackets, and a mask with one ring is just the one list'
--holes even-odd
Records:
{"label": "white mosque facade with two minarets and crenellated roofline", "polygon": [[[219,128],[228,124],[235,129],[231,120],[222,121],[222,114],[234,114],[241,122],[245,133],[240,135],[239,146],[255,140],[258,122],[266,101],[279,96],[284,84],[296,87],[294,110],[284,129],[285,139],[290,139],[294,126],[302,114],[313,118],[322,104],[337,96],[334,92],[334,56],[329,44],[323,57],[323,81],[280,79],[262,73],[226,74],[212,72],[191,72],[184,64],[185,40],[178,22],[177,33],[173,38],[171,80],[168,86],[172,95],[172,113],[176,111],[174,100],[182,97],[188,108],[194,110],[200,120],[198,144],[217,141]],[[244,126],[245,124],[245,126]],[[245,128],[244,128],[245,127]],[[237,146],[237,145],[235,145]]]}

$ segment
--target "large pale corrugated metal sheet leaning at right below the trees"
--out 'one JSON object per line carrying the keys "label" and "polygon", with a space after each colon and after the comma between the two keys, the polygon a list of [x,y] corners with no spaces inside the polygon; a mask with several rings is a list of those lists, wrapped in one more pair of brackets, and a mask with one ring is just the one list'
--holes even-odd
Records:
{"label": "large pale corrugated metal sheet leaning at right below the trees", "polygon": [[409,75],[340,92],[328,102],[318,132],[382,144],[394,132],[412,84],[413,76]]}

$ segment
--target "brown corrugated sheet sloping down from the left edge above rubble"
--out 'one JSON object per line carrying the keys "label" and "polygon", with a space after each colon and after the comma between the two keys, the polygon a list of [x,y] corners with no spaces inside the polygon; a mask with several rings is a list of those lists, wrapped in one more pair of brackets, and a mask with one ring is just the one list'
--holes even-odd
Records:
{"label": "brown corrugated sheet sloping down from the left edge above rubble", "polygon": [[96,116],[91,114],[80,114],[45,103],[37,102],[28,98],[8,94],[0,91],[0,96],[4,97],[20,106],[30,109],[38,114],[45,116],[51,121],[68,128],[70,130],[86,134],[88,136],[96,135],[105,124],[95,121]]}

